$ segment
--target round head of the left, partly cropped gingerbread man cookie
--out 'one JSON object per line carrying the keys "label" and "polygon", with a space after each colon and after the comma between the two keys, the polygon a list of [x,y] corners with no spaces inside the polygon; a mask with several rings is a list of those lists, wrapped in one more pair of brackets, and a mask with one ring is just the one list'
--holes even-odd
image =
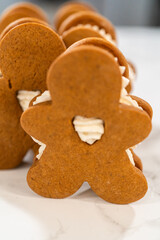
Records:
{"label": "round head of the left, partly cropped gingerbread man cookie", "polygon": [[19,21],[0,42],[2,75],[16,90],[44,91],[47,70],[65,46],[47,25],[33,19]]}

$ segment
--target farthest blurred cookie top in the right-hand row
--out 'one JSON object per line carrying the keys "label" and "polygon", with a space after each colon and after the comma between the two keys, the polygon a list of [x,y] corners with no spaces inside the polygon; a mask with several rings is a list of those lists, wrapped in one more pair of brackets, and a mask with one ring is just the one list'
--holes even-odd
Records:
{"label": "farthest blurred cookie top in the right-hand row", "polygon": [[93,7],[89,4],[81,2],[69,2],[63,4],[56,13],[54,18],[54,26],[58,31],[62,22],[70,15],[80,11],[94,11]]}

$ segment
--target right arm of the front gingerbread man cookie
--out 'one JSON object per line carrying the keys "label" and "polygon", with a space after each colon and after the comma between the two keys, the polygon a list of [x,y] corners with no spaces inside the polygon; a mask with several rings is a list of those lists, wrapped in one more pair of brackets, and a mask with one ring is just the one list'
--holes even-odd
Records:
{"label": "right arm of the front gingerbread man cookie", "polygon": [[117,149],[127,149],[142,142],[151,131],[151,118],[141,109],[120,104],[115,117],[110,137],[114,137]]}

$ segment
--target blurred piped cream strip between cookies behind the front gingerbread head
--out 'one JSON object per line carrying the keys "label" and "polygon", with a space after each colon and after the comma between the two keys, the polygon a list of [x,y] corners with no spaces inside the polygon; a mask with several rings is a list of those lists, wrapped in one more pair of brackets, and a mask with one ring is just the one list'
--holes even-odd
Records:
{"label": "blurred piped cream strip between cookies behind the front gingerbread head", "polygon": [[113,45],[116,45],[116,42],[113,40],[111,34],[106,33],[104,28],[100,28],[97,25],[91,25],[91,24],[78,24],[77,26],[73,26],[71,28],[74,28],[74,27],[85,27],[85,28],[93,29],[94,31],[99,33],[104,39],[111,42]]}

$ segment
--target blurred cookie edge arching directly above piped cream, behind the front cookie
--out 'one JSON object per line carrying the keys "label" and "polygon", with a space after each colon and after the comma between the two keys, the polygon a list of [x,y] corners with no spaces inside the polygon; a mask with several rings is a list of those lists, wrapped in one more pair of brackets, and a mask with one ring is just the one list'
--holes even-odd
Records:
{"label": "blurred cookie edge arching directly above piped cream, behind the front cookie", "polygon": [[99,29],[104,29],[106,33],[110,34],[113,41],[116,41],[116,33],[112,23],[100,14],[89,11],[79,12],[69,16],[63,21],[58,32],[62,35],[65,31],[79,24],[98,26]]}

